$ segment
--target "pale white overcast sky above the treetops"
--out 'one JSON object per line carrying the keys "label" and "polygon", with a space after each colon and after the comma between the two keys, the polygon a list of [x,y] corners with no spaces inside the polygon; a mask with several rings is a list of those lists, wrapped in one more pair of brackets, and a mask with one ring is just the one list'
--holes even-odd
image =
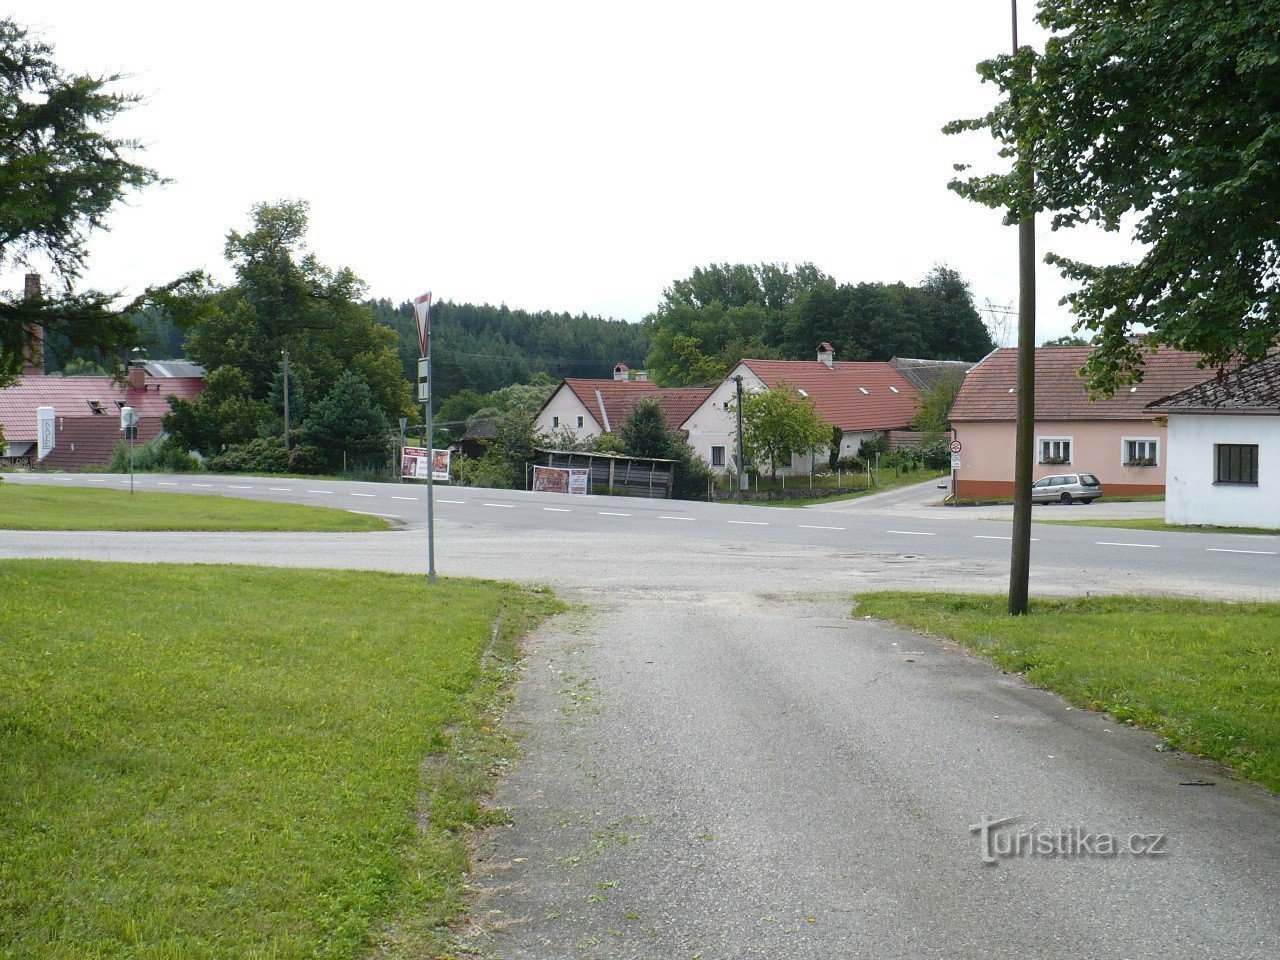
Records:
{"label": "pale white overcast sky above the treetops", "polygon": [[[974,64],[1009,46],[1006,0],[8,6],[68,69],[146,96],[115,129],[173,182],[95,238],[100,288],[225,279],[227,230],[298,197],[321,260],[396,301],[640,320],[694,266],[806,260],[909,283],[946,262],[979,305],[1016,298],[1016,230],[946,189],[991,141],[940,132],[989,106]],[[1039,282],[1044,339],[1071,320]]]}

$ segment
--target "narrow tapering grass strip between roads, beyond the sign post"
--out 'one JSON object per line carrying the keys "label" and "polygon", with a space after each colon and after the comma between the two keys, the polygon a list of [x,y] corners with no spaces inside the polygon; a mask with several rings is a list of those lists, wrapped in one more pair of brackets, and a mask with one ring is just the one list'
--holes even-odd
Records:
{"label": "narrow tapering grass strip between roads, beyond the sign post", "polygon": [[0,530],[387,530],[365,513],[193,493],[0,484]]}

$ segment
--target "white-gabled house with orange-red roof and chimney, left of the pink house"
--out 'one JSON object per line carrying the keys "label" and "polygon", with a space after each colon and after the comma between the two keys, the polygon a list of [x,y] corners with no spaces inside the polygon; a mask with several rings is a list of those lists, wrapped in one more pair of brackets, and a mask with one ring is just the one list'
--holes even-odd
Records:
{"label": "white-gabled house with orange-red roof and chimney, left of the pink house", "polygon": [[[737,376],[749,393],[786,385],[812,399],[818,415],[844,431],[842,457],[856,456],[863,440],[886,430],[909,429],[920,399],[915,384],[892,362],[837,361],[829,343],[818,347],[815,360],[742,360],[681,424],[689,443],[716,470],[733,465]],[[814,456],[826,458],[820,452]],[[810,457],[796,454],[790,471],[809,472],[810,467]]]}

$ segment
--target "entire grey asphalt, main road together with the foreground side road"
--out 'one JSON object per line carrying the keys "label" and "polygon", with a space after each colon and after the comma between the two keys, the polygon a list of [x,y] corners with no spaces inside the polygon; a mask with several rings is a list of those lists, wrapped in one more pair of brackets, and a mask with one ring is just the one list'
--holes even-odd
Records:
{"label": "entire grey asphalt, main road together with the foreground side road", "polygon": [[[6,477],[17,483],[95,483]],[[210,484],[195,486],[193,484]],[[353,507],[385,534],[0,532],[0,556],[421,571],[416,486],[155,477]],[[443,573],[553,584],[526,756],[474,877],[498,957],[1280,956],[1280,800],[957,649],[850,616],[1001,590],[1007,525],[900,492],[841,509],[439,490]],[[402,499],[403,498],[403,499]],[[1089,508],[1050,516],[1091,516]],[[1033,590],[1280,596],[1276,538],[1038,525]],[[984,864],[969,827],[1166,837]]]}

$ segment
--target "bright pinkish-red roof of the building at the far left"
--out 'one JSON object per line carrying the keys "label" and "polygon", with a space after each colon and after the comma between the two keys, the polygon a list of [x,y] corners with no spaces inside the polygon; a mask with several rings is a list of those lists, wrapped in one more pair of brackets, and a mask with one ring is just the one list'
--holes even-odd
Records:
{"label": "bright pinkish-red roof of the building at the far left", "polygon": [[[169,412],[169,397],[189,399],[204,389],[200,376],[148,376],[142,390],[122,387],[110,376],[22,376],[0,390],[0,429],[8,440],[35,440],[37,407],[52,407],[56,416],[68,420],[102,417],[119,428],[119,404],[143,417],[163,417]],[[95,413],[90,401],[101,404],[102,413]]]}

